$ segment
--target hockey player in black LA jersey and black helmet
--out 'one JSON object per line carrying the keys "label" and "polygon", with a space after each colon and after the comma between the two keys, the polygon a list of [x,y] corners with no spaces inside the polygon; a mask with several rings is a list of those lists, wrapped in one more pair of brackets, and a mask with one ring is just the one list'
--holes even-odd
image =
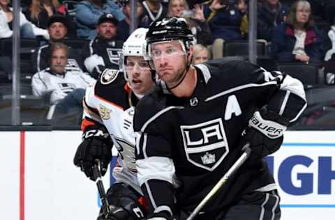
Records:
{"label": "hockey player in black LA jersey and black helmet", "polygon": [[237,59],[191,65],[185,19],[153,22],[147,33],[159,85],[137,104],[137,178],[149,219],[186,219],[250,143],[251,156],[196,219],[280,219],[276,183],[263,158],[306,107],[301,82]]}

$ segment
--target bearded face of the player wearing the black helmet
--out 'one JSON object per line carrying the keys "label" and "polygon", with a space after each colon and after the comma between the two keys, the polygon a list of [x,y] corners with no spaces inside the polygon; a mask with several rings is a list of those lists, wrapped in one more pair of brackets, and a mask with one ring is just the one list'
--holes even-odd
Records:
{"label": "bearded face of the player wearing the black helmet", "polygon": [[168,85],[179,82],[186,68],[186,53],[177,40],[151,45],[151,58],[159,79]]}

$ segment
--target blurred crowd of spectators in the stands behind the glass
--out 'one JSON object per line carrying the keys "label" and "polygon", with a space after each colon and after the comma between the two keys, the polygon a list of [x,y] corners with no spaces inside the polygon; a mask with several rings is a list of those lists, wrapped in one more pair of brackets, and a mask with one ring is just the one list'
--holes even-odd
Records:
{"label": "blurred crowd of spectators in the stands behind the glass", "polygon": [[[121,48],[130,35],[130,3],[21,3],[21,92],[47,102],[47,119],[59,120],[68,109],[80,109],[84,89],[94,84],[105,68],[119,68]],[[10,0],[0,0],[2,96],[11,93],[6,88],[13,78],[12,10]],[[136,15],[139,27],[149,27],[160,17],[185,17],[194,36],[194,65],[224,56],[248,56],[248,0],[137,0]],[[285,70],[288,64],[293,65],[292,70],[297,71],[294,76],[306,88],[332,86],[334,17],[335,0],[259,0],[257,62],[267,70]],[[298,76],[299,71],[314,72]]]}

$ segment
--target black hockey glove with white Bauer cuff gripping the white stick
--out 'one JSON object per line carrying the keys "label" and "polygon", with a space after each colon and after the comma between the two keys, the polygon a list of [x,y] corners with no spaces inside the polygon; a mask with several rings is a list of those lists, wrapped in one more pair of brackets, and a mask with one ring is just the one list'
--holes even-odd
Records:
{"label": "black hockey glove with white Bauer cuff gripping the white stick", "polygon": [[255,111],[241,136],[240,146],[250,143],[252,157],[271,155],[281,147],[289,120],[274,112]]}

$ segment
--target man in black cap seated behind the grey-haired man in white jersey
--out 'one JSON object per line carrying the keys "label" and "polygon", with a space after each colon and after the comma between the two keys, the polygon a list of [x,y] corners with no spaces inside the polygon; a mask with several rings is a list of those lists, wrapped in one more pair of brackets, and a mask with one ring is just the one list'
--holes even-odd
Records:
{"label": "man in black cap seated behind the grey-haired man in white jersey", "polygon": [[[47,22],[47,31],[50,35],[50,41],[47,45],[43,45],[36,51],[36,70],[40,72],[49,67],[50,47],[54,42],[64,42],[68,33],[68,17],[64,15],[52,15]],[[68,49],[68,64],[67,70],[82,71],[83,62],[81,54],[73,52],[73,49]]]}

